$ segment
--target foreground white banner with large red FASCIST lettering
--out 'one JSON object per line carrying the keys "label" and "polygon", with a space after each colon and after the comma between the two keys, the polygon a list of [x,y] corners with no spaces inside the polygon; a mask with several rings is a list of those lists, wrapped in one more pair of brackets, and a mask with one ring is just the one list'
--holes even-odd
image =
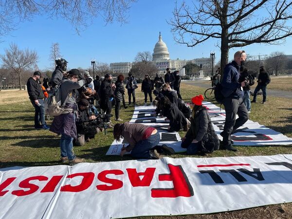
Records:
{"label": "foreground white banner with large red FASCIST lettering", "polygon": [[1,219],[206,214],[292,202],[292,155],[0,169]]}

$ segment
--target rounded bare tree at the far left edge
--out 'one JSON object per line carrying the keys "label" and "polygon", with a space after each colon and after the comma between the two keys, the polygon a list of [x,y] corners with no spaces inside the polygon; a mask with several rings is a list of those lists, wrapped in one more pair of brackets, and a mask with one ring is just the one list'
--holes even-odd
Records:
{"label": "rounded bare tree at the far left edge", "polygon": [[21,90],[21,73],[34,67],[38,60],[37,52],[29,49],[20,50],[16,44],[11,43],[9,49],[5,49],[5,54],[0,55],[0,58],[3,68],[17,73],[19,90]]}

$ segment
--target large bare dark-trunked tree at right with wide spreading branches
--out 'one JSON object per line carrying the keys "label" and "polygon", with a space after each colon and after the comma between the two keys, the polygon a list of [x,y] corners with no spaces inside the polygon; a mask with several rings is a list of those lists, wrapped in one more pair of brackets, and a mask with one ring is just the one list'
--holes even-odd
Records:
{"label": "large bare dark-trunked tree at right with wide spreading branches", "polygon": [[[230,48],[253,43],[280,44],[292,35],[291,0],[200,0],[176,5],[172,25],[174,39],[189,47],[210,38],[218,40],[221,69]],[[267,15],[267,16],[265,16]]]}

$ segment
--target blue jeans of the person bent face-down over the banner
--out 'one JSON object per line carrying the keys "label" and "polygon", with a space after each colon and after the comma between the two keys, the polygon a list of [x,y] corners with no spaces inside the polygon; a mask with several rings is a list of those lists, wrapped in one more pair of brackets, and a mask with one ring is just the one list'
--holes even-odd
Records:
{"label": "blue jeans of the person bent face-down over the banner", "polygon": [[157,146],[160,142],[160,134],[157,132],[150,135],[147,139],[137,142],[136,146],[131,151],[131,156],[134,158],[150,159],[151,148]]}

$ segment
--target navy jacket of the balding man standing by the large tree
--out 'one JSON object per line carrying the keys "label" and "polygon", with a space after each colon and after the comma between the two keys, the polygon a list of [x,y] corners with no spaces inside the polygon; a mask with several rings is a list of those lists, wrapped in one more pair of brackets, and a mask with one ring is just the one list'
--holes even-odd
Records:
{"label": "navy jacket of the balding man standing by the large tree", "polygon": [[224,68],[223,79],[221,81],[223,96],[238,98],[243,97],[243,91],[240,90],[241,84],[238,82],[239,65],[235,61],[227,64]]}

